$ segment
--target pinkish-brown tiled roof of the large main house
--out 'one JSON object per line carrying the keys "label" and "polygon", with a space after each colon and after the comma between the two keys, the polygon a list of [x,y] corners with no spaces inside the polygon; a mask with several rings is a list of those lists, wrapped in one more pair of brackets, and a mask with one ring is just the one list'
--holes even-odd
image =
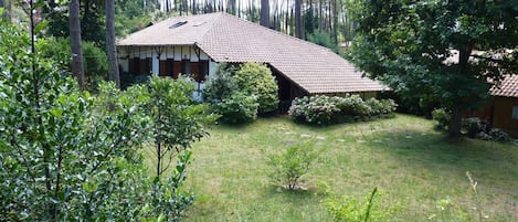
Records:
{"label": "pinkish-brown tiled roof of the large main house", "polygon": [[[179,21],[188,23],[169,29]],[[119,45],[180,44],[195,44],[215,62],[268,63],[311,94],[388,89],[362,77],[352,64],[329,49],[226,13],[168,19],[119,42]]]}

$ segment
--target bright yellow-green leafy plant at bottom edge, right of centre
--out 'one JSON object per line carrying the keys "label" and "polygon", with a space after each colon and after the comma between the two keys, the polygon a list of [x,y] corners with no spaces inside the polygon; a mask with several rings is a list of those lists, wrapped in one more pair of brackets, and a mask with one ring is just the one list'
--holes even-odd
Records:
{"label": "bright yellow-green leafy plant at bottom edge, right of centre", "polygon": [[348,195],[339,198],[329,191],[326,192],[327,198],[324,199],[323,204],[336,222],[388,221],[398,210],[397,203],[390,207],[380,207],[377,199],[378,188],[374,188],[370,195],[366,195],[364,202]]}

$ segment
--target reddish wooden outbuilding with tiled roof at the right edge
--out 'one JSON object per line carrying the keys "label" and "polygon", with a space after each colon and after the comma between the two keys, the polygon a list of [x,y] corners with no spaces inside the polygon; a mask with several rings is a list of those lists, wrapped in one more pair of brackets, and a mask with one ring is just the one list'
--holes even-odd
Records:
{"label": "reddish wooden outbuilding with tiled roof at the right edge", "polygon": [[518,75],[507,76],[490,91],[493,96],[491,125],[518,137]]}

